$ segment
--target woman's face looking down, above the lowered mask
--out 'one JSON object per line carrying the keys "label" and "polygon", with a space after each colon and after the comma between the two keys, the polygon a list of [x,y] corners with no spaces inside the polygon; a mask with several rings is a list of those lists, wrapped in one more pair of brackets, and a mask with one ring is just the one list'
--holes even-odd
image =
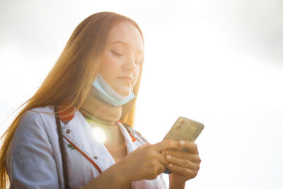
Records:
{"label": "woman's face looking down, above the lowered mask", "polygon": [[128,96],[137,82],[144,45],[139,30],[127,21],[108,34],[100,74],[117,93]]}

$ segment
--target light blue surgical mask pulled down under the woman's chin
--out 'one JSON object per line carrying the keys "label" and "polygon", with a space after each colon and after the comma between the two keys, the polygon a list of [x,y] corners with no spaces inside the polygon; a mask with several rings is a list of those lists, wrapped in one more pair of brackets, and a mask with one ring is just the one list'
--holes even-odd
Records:
{"label": "light blue surgical mask pulled down under the woman's chin", "polygon": [[101,74],[98,74],[96,80],[93,82],[93,88],[96,96],[100,100],[105,101],[111,105],[120,106],[132,101],[135,98],[133,91],[128,96],[122,96],[117,93],[106,81]]}

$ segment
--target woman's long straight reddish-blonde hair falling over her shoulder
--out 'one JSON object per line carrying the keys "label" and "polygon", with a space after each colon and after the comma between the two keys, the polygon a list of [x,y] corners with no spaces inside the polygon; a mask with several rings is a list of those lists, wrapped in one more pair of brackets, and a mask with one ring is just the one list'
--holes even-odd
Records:
{"label": "woman's long straight reddish-blonde hair falling over her shoulder", "polygon": [[[0,189],[5,189],[8,185],[5,159],[9,144],[12,142],[23,114],[33,108],[60,105],[64,101],[70,103],[67,108],[75,106],[79,109],[100,70],[108,33],[120,21],[132,23],[144,40],[137,23],[126,16],[112,12],[95,13],[88,16],[76,27],[45,81],[33,97],[23,104],[23,109],[1,137],[3,144],[0,152]],[[144,59],[141,60],[141,69],[143,61]],[[137,84],[134,86],[135,96],[139,91],[140,79],[141,74],[139,74]],[[121,120],[128,125],[134,123],[136,99],[122,107]]]}

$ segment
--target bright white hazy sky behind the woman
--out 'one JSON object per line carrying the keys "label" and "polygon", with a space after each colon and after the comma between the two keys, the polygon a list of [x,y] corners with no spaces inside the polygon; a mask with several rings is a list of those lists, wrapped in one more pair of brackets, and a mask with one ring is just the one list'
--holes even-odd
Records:
{"label": "bright white hazy sky behind the woman", "polygon": [[[99,11],[145,40],[136,129],[161,141],[180,115],[204,123],[186,188],[283,188],[283,1],[0,1],[0,134],[76,25]],[[10,116],[10,117],[9,117]]]}

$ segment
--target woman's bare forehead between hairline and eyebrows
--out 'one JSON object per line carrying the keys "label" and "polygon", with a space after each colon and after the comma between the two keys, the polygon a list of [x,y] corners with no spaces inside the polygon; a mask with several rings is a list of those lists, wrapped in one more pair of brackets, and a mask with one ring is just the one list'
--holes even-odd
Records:
{"label": "woman's bare forehead between hairline and eyebrows", "polygon": [[135,50],[144,51],[144,43],[139,30],[127,21],[114,25],[107,38],[108,45],[120,44]]}

